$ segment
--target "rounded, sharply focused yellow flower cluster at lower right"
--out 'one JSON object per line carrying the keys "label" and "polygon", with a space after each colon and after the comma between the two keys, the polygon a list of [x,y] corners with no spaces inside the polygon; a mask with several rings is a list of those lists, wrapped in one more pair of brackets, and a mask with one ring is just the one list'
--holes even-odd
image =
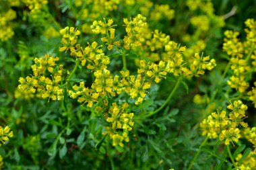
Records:
{"label": "rounded, sharply focused yellow flower cluster at lower right", "polygon": [[238,100],[230,103],[227,108],[231,110],[229,114],[224,110],[222,112],[214,112],[201,122],[200,127],[203,136],[208,138],[217,138],[219,136],[220,140],[225,140],[225,144],[238,142],[238,139],[241,138],[239,128],[248,126],[247,123],[243,122],[247,118],[245,116],[247,105]]}

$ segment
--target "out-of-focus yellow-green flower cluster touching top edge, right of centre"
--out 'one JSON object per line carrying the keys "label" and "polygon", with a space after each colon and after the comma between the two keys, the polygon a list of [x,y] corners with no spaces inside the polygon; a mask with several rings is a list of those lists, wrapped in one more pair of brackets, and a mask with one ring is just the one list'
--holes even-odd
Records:
{"label": "out-of-focus yellow-green flower cluster touching top edge, right of centre", "polygon": [[224,26],[224,18],[214,14],[212,1],[187,0],[186,5],[189,7],[189,11],[193,13],[189,17],[191,26],[195,28],[193,34],[185,34],[183,36],[183,41],[188,46],[184,55],[189,60],[196,52],[203,52],[205,50],[209,40],[207,35],[220,30]]}

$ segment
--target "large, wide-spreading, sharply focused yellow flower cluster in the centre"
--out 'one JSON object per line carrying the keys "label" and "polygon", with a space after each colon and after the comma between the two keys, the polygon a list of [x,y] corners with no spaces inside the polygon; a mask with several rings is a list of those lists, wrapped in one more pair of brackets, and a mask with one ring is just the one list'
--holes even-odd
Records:
{"label": "large, wide-spreading, sharply focused yellow flower cluster in the centre", "polygon": [[[46,54],[42,58],[35,58],[32,65],[33,75],[26,78],[21,77],[18,86],[22,91],[36,93],[38,97],[52,100],[64,99],[64,93],[72,99],[77,99],[82,105],[86,104],[88,110],[102,115],[108,126],[103,134],[107,134],[113,141],[113,146],[123,146],[123,142],[129,141],[129,132],[133,128],[133,113],[129,105],[139,105],[148,95],[148,89],[154,83],[160,83],[166,79],[167,74],[175,77],[192,77],[203,75],[205,70],[212,70],[215,60],[209,56],[191,57],[191,62],[185,63],[183,52],[185,46],[180,46],[170,40],[170,36],[155,30],[144,34],[147,29],[146,17],[137,15],[133,19],[123,19],[127,35],[120,40],[115,36],[115,25],[113,19],[94,21],[92,33],[100,34],[99,42],[88,42],[86,46],[77,44],[77,36],[80,31],[77,28],[66,27],[60,30],[63,36],[59,48],[61,52],[69,52],[71,59],[75,58],[73,71],[63,69],[58,65],[58,57]],[[106,46],[106,48],[104,48]],[[137,48],[140,47],[140,48]],[[119,52],[123,58],[123,71],[111,72],[108,70],[110,56],[106,55],[103,49],[108,52]],[[115,50],[113,50],[115,49]],[[125,53],[127,50],[134,50],[138,54],[147,54],[149,57],[141,56],[138,61],[137,74],[130,75],[125,66]],[[158,51],[162,51],[160,56]],[[152,59],[157,55],[158,59]],[[79,81],[73,83],[72,77],[77,68],[88,69],[92,81]],[[51,79],[49,78],[51,76]],[[75,81],[77,82],[77,81]],[[122,95],[121,95],[122,94]],[[125,99],[117,102],[117,97],[125,96]],[[128,102],[128,97],[131,100]],[[129,104],[128,104],[129,103]]]}

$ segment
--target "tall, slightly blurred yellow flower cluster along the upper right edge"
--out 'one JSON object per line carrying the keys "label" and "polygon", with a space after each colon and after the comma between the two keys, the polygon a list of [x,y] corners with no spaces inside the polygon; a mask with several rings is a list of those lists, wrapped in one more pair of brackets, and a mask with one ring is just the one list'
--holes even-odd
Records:
{"label": "tall, slightly blurred yellow flower cluster along the upper right edge", "polygon": [[[253,52],[255,52],[255,20],[247,19],[245,22],[247,28],[247,39],[245,42],[241,42],[237,37],[239,32],[226,31],[224,35],[223,50],[231,57],[230,58],[230,69],[232,70],[232,76],[228,80],[228,85],[236,89],[240,93],[246,91],[249,87],[247,83],[246,74],[248,71],[253,71],[250,67],[250,58],[254,58]],[[253,63],[253,62],[252,62]]]}

